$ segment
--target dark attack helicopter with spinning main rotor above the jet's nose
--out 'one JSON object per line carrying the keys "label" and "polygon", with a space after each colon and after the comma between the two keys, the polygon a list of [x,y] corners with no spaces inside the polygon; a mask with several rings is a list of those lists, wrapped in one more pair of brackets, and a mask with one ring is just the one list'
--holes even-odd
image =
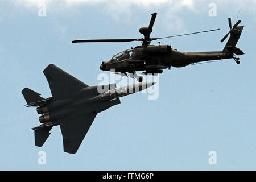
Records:
{"label": "dark attack helicopter with spinning main rotor above the jet's nose", "polygon": [[166,36],[162,38],[150,38],[152,27],[154,25],[156,13],[151,14],[151,20],[148,27],[142,27],[139,32],[144,35],[140,39],[91,39],[91,40],[73,40],[72,43],[89,43],[89,42],[132,42],[141,41],[142,45],[119,52],[109,61],[103,61],[100,69],[102,71],[110,71],[121,74],[122,76],[129,76],[131,78],[137,77],[138,81],[143,80],[142,76],[137,76],[137,71],[144,71],[143,75],[157,75],[163,73],[163,69],[171,69],[171,67],[185,67],[190,64],[199,62],[207,62],[222,59],[234,59],[237,64],[240,64],[240,59],[236,55],[243,55],[243,51],[236,47],[243,30],[243,26],[238,26],[241,20],[238,20],[232,27],[231,18],[228,19],[230,31],[221,39],[224,42],[230,35],[222,51],[209,52],[180,52],[172,48],[170,45],[151,45],[152,40],[174,38],[177,36],[200,34],[203,32],[220,30],[208,30],[193,32],[189,34],[181,34],[174,36]]}

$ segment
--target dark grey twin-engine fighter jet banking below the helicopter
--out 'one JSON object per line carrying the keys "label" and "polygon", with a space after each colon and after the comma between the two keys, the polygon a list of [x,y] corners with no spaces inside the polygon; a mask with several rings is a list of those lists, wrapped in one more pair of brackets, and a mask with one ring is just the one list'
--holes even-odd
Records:
{"label": "dark grey twin-engine fighter jet banking below the helicopter", "polygon": [[119,97],[139,92],[155,82],[141,82],[117,89],[115,84],[89,86],[69,73],[50,64],[43,71],[49,83],[52,97],[24,88],[22,94],[26,106],[37,107],[40,126],[35,131],[35,146],[42,147],[53,126],[60,125],[64,152],[75,154],[96,115],[120,104]]}

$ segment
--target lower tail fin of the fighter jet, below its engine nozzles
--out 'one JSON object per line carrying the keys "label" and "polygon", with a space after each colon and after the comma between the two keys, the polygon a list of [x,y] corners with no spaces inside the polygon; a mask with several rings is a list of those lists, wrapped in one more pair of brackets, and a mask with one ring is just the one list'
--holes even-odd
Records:
{"label": "lower tail fin of the fighter jet, below its engine nozzles", "polygon": [[35,130],[35,146],[42,147],[44,142],[51,133],[49,131],[52,129],[52,125],[45,127],[36,127]]}

